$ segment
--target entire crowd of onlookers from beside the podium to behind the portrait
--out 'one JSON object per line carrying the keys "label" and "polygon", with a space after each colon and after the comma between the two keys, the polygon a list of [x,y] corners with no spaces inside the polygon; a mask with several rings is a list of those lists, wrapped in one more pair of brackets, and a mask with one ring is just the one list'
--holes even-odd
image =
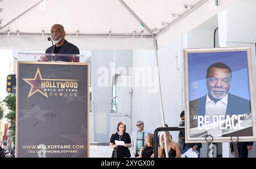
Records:
{"label": "entire crowd of onlookers from beside the podium to behind the portrait", "polygon": [[[179,126],[185,126],[185,113],[180,113],[181,122]],[[131,133],[126,133],[126,124],[123,121],[119,121],[117,125],[117,132],[112,134],[110,138],[109,146],[113,149],[112,157],[138,157],[138,158],[150,158],[154,157],[154,134],[144,130],[144,122],[141,120],[137,121],[137,130]],[[168,127],[168,125],[165,125]],[[175,142],[172,140],[170,132],[160,132],[158,136],[158,157],[165,158],[166,151],[164,150],[164,133],[166,133],[167,152],[169,158],[179,158],[189,149],[195,151],[200,157],[200,149],[202,143],[185,143],[185,131],[179,132],[179,141]],[[120,143],[123,142],[123,143]],[[239,156],[246,158],[248,151],[251,150],[253,142],[239,142],[238,151]],[[131,151],[129,150],[131,149]],[[230,151],[233,154],[233,145],[230,145]],[[130,153],[132,152],[132,154]]]}

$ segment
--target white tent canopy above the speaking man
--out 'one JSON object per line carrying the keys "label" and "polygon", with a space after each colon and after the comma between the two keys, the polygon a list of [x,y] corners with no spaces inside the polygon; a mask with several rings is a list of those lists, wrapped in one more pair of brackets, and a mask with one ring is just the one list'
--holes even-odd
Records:
{"label": "white tent canopy above the speaking man", "polygon": [[163,47],[236,0],[2,0],[0,49],[44,50],[62,24],[80,50]]}

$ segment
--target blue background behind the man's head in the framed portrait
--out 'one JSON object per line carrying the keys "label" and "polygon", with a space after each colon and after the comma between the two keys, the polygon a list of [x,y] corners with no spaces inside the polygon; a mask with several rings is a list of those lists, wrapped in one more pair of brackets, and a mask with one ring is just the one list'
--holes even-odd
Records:
{"label": "blue background behind the man's head in the framed portrait", "polygon": [[230,94],[250,100],[247,52],[236,51],[188,53],[189,101],[207,94],[207,69],[216,62],[223,62],[232,70]]}

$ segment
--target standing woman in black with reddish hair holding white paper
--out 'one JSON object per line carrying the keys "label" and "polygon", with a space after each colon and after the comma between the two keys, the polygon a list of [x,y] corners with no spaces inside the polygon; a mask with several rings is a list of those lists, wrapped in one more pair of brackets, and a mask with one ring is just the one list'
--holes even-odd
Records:
{"label": "standing woman in black with reddish hair holding white paper", "polygon": [[[114,149],[113,151],[117,152],[117,157],[131,157],[129,148],[131,147],[131,138],[128,133],[125,132],[126,125],[125,122],[120,121],[117,125],[117,132],[112,134],[110,138],[109,147]],[[125,145],[117,145],[115,141],[123,141]]]}

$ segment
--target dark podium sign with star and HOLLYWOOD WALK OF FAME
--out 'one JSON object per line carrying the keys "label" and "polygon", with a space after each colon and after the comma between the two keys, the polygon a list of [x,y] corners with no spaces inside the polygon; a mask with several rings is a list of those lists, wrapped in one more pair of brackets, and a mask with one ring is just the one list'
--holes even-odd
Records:
{"label": "dark podium sign with star and HOLLYWOOD WALK OF FAME", "polygon": [[16,157],[89,156],[88,67],[18,62]]}

